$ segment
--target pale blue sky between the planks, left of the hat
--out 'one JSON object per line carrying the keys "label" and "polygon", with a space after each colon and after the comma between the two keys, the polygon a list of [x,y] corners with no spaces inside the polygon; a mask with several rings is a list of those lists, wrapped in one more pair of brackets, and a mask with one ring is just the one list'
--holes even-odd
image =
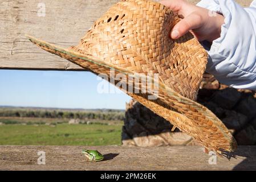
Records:
{"label": "pale blue sky between the planks, left of the hat", "polygon": [[0,70],[0,105],[125,109],[130,99],[90,72]]}

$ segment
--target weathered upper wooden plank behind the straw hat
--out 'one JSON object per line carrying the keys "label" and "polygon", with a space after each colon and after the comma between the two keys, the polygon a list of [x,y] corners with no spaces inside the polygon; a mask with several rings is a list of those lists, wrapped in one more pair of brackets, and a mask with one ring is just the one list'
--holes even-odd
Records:
{"label": "weathered upper wooden plank behind the straw hat", "polygon": [[[40,1],[1,1],[0,69],[84,71],[67,60],[40,50],[24,35],[30,34],[63,47],[75,45],[94,21],[117,1],[44,0],[46,16],[38,16]],[[238,2],[247,6],[251,1]]]}

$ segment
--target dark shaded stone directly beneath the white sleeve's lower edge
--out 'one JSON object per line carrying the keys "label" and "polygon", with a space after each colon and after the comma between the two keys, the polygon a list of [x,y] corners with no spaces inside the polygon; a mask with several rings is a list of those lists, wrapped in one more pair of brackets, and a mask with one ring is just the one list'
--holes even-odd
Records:
{"label": "dark shaded stone directly beneath the white sleeve's lower edge", "polygon": [[241,93],[233,88],[226,88],[223,90],[218,90],[214,93],[212,98],[218,106],[224,109],[232,109],[238,100],[241,98]]}

